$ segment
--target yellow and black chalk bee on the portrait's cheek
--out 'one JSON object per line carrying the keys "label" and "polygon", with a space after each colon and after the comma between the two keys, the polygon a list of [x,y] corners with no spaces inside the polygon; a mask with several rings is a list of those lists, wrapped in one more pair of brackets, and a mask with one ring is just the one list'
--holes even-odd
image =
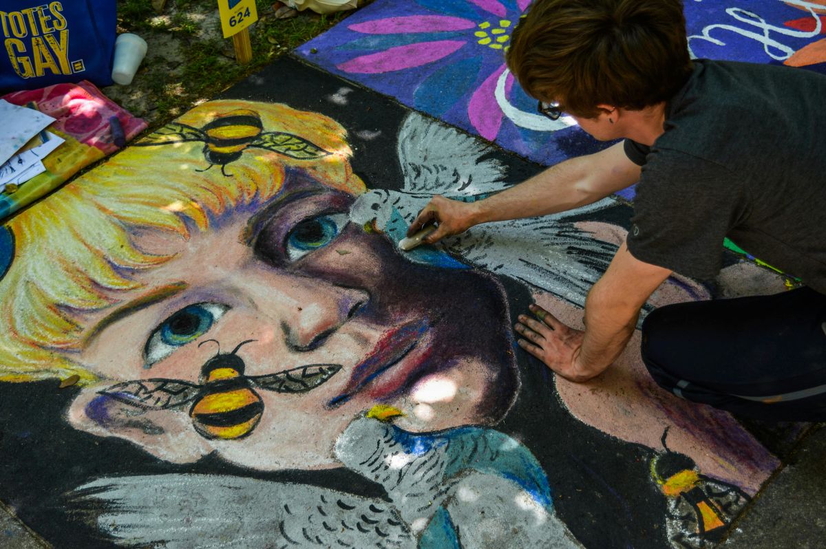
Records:
{"label": "yellow and black chalk bee on the portrait's cheek", "polygon": [[[200,384],[182,380],[149,379],[124,381],[99,391],[126,405],[140,409],[173,409],[192,402],[192,426],[204,438],[233,440],[244,438],[258,426],[263,400],[253,387],[279,393],[303,393],[315,389],[335,373],[339,364],[309,364],[267,376],[245,376],[244,360],[236,353],[211,357],[201,369]],[[203,343],[216,342],[209,339]],[[203,344],[201,343],[201,344]],[[200,347],[200,345],[199,345]]]}

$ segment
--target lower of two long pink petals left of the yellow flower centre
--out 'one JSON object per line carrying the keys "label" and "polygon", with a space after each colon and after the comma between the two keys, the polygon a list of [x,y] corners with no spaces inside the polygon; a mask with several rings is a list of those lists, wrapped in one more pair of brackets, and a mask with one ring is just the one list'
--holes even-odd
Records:
{"label": "lower of two long pink petals left of the yellow flower centre", "polygon": [[377,74],[394,70],[412,69],[447,57],[467,42],[463,40],[437,40],[418,44],[397,45],[377,54],[360,55],[337,65],[345,73]]}

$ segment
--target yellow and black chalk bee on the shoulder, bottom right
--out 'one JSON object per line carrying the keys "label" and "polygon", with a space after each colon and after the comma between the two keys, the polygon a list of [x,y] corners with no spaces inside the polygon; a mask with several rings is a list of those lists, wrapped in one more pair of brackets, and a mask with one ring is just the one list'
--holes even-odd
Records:
{"label": "yellow and black chalk bee on the shoulder, bottom right", "polygon": [[668,539],[675,549],[715,547],[750,498],[738,486],[705,476],[691,457],[662,447],[651,461],[651,477],[666,496]]}

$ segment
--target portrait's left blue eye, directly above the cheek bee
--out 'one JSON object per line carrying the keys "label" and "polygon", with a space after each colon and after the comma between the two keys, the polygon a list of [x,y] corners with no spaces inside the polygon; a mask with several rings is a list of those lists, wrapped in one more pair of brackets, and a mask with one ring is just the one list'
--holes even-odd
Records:
{"label": "portrait's left blue eye, directly above the cheek bee", "polygon": [[150,335],[144,348],[145,367],[169,357],[175,349],[195,341],[211,329],[229,310],[226,305],[198,303],[179,310],[164,320]]}

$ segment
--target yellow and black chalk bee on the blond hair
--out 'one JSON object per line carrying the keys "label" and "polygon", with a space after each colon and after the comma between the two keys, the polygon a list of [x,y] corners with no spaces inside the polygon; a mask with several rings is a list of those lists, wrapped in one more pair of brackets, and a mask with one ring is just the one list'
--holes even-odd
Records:
{"label": "yellow and black chalk bee on the blond hair", "polygon": [[297,160],[320,159],[330,154],[297,135],[282,131],[265,132],[258,113],[247,109],[237,109],[216,116],[201,128],[171,122],[135,145],[149,147],[186,141],[204,143],[204,158],[210,165],[197,171],[206,172],[217,164],[221,166],[221,173],[227,177],[229,174],[225,172],[225,166],[240,159],[246,149],[272,150]]}

